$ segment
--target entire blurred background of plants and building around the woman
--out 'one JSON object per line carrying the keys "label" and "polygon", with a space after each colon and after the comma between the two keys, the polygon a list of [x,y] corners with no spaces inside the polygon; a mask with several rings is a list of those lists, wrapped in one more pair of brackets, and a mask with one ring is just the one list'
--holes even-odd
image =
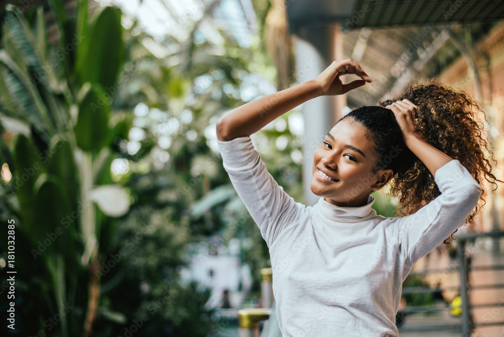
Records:
{"label": "entire blurred background of plants and building around the woman", "polygon": [[[251,137],[297,202],[318,200],[321,135],[421,78],[477,99],[502,179],[499,1],[0,0],[0,17],[2,335],[280,336],[268,248],[215,124],[333,60],[352,58],[373,83]],[[395,215],[386,191],[375,198]],[[503,206],[500,186],[475,231],[414,266],[402,336],[503,335]]]}

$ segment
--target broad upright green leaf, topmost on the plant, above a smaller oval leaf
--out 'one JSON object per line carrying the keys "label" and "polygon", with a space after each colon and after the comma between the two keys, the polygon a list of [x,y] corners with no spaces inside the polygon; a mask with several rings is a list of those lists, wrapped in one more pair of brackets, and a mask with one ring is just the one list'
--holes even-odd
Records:
{"label": "broad upright green leaf, topmost on the plant, above a smaller oval leaf", "polygon": [[[89,36],[77,55],[77,76],[80,83],[99,83],[112,92],[122,68],[125,46],[122,39],[121,11],[105,7],[97,10]],[[116,90],[114,90],[116,91]]]}

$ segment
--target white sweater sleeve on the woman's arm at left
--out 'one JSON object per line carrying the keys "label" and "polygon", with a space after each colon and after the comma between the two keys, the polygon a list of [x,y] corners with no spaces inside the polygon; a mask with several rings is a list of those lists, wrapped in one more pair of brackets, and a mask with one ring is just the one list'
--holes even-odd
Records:
{"label": "white sweater sleeve on the woman's arm at left", "polygon": [[299,219],[305,206],[278,185],[250,137],[217,140],[217,144],[231,183],[270,247],[285,226]]}

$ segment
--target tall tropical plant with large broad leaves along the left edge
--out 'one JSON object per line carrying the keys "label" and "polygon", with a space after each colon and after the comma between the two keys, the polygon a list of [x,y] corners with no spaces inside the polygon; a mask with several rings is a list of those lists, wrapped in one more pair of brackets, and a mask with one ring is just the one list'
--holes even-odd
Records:
{"label": "tall tropical plant with large broad leaves along the left edge", "polygon": [[[130,206],[129,194],[111,181],[112,140],[127,122],[111,118],[107,92],[126,50],[117,8],[98,8],[90,21],[87,0],[77,2],[75,18],[61,0],[49,4],[58,49],[47,43],[42,7],[27,17],[5,7],[0,204],[2,220],[16,222],[16,332],[88,336],[98,313],[101,259],[115,230],[112,217]],[[5,253],[7,236],[0,238]]]}

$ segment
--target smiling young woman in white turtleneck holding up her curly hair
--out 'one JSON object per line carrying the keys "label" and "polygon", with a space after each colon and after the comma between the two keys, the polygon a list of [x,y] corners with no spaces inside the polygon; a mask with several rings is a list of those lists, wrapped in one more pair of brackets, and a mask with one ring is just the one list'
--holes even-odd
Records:
{"label": "smiling young woman in white turtleneck holding up her curly hair", "polygon": [[[361,79],[342,84],[345,74]],[[224,168],[270,250],[284,337],[397,336],[402,283],[413,264],[466,220],[473,225],[480,182],[495,184],[473,118],[483,112],[429,81],[339,120],[313,156],[319,202],[296,203],[249,136],[311,98],[371,82],[354,61],[333,62],[316,79],[248,102],[217,123]],[[370,193],[389,182],[402,217],[371,208]]]}

